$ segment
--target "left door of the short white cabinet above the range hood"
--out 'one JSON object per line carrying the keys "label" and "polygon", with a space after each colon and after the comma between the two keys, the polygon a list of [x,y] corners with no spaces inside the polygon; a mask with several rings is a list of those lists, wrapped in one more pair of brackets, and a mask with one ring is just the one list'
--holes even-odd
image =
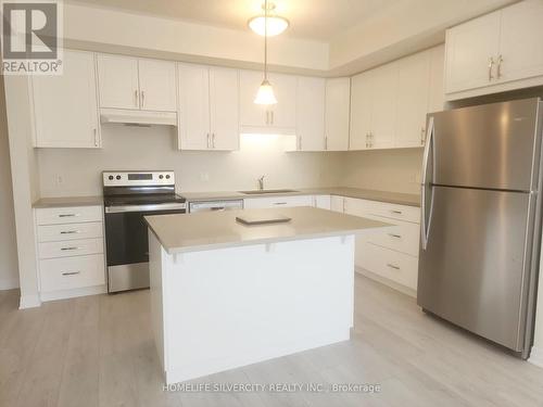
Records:
{"label": "left door of the short white cabinet above the range hood", "polygon": [[139,109],[138,60],[98,54],[100,107]]}

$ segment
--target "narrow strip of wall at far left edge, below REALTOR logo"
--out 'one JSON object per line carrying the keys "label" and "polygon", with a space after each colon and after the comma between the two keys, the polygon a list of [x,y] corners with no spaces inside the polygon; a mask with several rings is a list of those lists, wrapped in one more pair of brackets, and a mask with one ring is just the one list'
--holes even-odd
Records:
{"label": "narrow strip of wall at far left edge, below REALTOR logo", "polygon": [[2,219],[0,228],[0,290],[9,290],[18,287],[18,265],[3,76],[0,76],[0,191],[2,191],[0,194],[0,219]]}

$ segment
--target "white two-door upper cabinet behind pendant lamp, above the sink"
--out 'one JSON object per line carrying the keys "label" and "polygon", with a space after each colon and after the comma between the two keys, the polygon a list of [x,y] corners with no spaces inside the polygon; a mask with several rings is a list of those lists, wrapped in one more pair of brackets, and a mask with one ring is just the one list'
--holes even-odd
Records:
{"label": "white two-door upper cabinet behind pendant lamp, above the sink", "polygon": [[291,133],[296,128],[296,77],[269,74],[278,103],[258,105],[254,103],[262,82],[262,72],[240,73],[240,124],[243,132]]}

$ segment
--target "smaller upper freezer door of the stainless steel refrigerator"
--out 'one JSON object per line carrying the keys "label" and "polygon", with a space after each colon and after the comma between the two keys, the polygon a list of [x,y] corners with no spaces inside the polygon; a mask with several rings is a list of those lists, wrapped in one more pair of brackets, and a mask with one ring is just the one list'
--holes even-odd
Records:
{"label": "smaller upper freezer door of the stainless steel refrigerator", "polygon": [[538,99],[457,109],[432,117],[435,183],[536,189],[532,174],[539,148]]}

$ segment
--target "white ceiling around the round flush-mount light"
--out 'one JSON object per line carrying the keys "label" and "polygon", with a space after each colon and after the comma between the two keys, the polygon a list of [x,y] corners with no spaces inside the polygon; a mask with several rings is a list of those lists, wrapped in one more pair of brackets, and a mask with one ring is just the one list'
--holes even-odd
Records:
{"label": "white ceiling around the round flush-mount light", "polygon": [[[286,36],[327,42],[375,13],[404,1],[406,0],[275,0],[274,3],[276,12],[291,22]],[[73,2],[245,30],[249,29],[248,20],[262,12],[263,0],[76,0]]]}

